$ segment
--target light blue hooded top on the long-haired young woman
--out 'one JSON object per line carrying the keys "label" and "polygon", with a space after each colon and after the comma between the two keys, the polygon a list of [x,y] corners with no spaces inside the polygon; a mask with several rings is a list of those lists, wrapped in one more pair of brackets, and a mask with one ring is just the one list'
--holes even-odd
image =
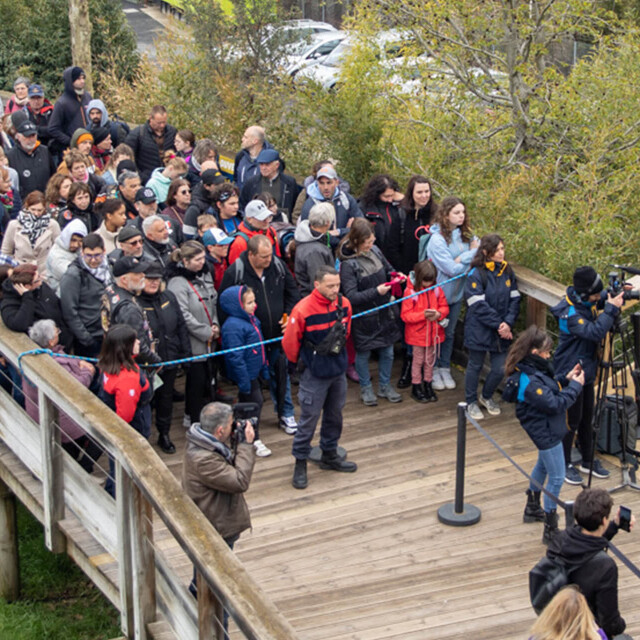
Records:
{"label": "light blue hooded top on the long-haired young woman", "polygon": [[[437,224],[431,226],[431,240],[427,245],[427,258],[435,264],[438,269],[437,283],[445,282],[454,276],[467,273],[469,265],[476,255],[476,249],[471,249],[468,242],[462,241],[460,229],[454,229],[451,234],[451,242],[447,242],[440,233]],[[456,258],[460,262],[456,262]],[[449,305],[462,300],[464,295],[465,278],[458,278],[453,282],[442,285],[444,295],[447,296]]]}

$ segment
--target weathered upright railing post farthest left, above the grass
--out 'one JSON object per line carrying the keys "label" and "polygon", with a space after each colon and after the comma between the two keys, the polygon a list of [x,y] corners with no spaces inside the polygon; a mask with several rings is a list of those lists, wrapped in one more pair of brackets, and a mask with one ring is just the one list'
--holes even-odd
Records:
{"label": "weathered upright railing post farthest left, above the grass", "polygon": [[64,519],[64,476],[58,410],[44,392],[38,390],[40,448],[42,451],[42,492],[44,497],[44,542],[53,553],[67,549],[67,541],[58,527]]}

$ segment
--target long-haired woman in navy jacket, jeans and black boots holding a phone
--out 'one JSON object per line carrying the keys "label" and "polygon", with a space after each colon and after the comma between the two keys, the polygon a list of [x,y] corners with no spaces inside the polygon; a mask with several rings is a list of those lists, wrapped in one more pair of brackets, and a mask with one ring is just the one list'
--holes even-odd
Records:
{"label": "long-haired woman in navy jacket, jeans and black boots holding a phone", "polygon": [[502,397],[516,403],[516,417],[538,449],[538,460],[531,472],[535,482],[527,489],[525,522],[544,520],[542,542],[549,544],[558,533],[556,501],[545,493],[544,510],[540,507],[540,487],[558,496],[564,482],[562,440],[567,433],[565,413],[582,391],[585,374],[575,366],[562,379],[554,377],[549,361],[553,341],[545,331],[530,326],[513,343],[505,372],[509,376]]}

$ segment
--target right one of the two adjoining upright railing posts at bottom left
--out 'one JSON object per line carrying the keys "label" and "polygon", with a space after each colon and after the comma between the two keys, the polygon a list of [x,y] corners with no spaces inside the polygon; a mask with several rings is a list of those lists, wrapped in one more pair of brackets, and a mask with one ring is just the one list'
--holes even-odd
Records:
{"label": "right one of the two adjoining upright railing posts at bottom left", "polygon": [[156,563],[151,505],[137,486],[131,486],[131,560],[135,637],[147,637],[147,624],[156,619]]}

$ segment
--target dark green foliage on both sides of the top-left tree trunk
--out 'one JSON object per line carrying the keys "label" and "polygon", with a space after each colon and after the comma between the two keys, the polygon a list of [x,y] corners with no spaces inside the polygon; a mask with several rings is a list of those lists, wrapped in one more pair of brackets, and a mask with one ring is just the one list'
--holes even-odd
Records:
{"label": "dark green foliage on both sides of the top-left tree trunk", "polygon": [[[107,69],[131,77],[138,55],[122,7],[111,0],[90,0],[89,11],[95,78]],[[62,71],[71,64],[67,0],[0,0],[0,16],[0,86],[11,90],[15,77],[26,74],[58,94]]]}

